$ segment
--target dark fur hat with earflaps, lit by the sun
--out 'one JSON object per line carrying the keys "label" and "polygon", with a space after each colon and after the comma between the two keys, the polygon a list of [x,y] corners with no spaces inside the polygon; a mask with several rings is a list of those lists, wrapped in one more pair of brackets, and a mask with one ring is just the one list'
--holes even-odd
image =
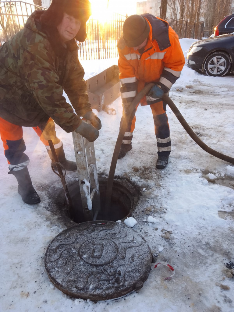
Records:
{"label": "dark fur hat with earflaps, lit by the sun", "polygon": [[89,0],[53,0],[50,7],[41,15],[40,21],[47,27],[56,27],[61,23],[63,13],[80,20],[80,30],[75,39],[80,42],[85,41],[86,22],[91,15]]}

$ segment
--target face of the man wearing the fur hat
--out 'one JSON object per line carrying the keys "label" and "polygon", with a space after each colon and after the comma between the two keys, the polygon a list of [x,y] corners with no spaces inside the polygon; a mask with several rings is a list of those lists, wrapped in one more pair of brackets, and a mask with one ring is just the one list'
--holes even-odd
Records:
{"label": "face of the man wearing the fur hat", "polygon": [[80,29],[80,21],[73,16],[63,13],[63,19],[57,26],[63,42],[73,39]]}

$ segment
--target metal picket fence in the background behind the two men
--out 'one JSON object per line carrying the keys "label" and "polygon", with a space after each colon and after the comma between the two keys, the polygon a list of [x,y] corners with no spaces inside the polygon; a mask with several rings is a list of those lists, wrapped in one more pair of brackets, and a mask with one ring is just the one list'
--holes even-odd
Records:
{"label": "metal picket fence in the background behind the two men", "polygon": [[[22,1],[0,1],[0,46],[10,40],[25,25],[35,10],[46,10],[35,4]],[[77,42],[80,60],[95,60],[118,57],[117,42],[121,36],[126,16],[113,14],[108,21],[90,18],[87,22],[87,39]],[[166,20],[181,38],[202,39],[203,22]]]}

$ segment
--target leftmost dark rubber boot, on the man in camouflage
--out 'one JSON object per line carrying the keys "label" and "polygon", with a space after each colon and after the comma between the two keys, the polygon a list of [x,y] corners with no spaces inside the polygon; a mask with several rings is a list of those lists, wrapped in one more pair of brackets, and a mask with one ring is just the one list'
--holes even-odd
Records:
{"label": "leftmost dark rubber boot, on the man in camouflage", "polygon": [[24,167],[21,170],[8,172],[13,174],[18,182],[18,193],[21,195],[23,202],[26,204],[34,205],[41,202],[40,197],[32,186],[32,180],[30,178],[28,167]]}

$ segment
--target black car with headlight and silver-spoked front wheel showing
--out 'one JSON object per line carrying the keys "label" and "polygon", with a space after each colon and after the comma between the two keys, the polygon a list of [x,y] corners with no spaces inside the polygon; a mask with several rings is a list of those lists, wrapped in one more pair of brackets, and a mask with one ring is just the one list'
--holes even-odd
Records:
{"label": "black car with headlight and silver-spoked front wheel showing", "polygon": [[189,67],[208,76],[234,72],[234,33],[194,42],[187,59]]}

